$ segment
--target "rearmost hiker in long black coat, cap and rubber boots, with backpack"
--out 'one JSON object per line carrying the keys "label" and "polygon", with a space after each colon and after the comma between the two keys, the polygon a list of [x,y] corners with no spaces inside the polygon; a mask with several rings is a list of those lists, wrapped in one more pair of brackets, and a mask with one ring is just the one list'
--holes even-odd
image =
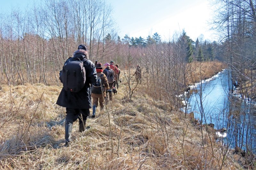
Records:
{"label": "rearmost hiker in long black coat, cap and rubber boots, with backpack", "polygon": [[[94,63],[87,56],[87,46],[83,44],[79,45],[73,57],[70,57],[65,62],[60,76],[61,82],[63,82],[63,88],[56,104],[66,107],[65,146],[68,146],[72,142],[71,133],[73,122],[79,119],[79,132],[83,132],[87,117],[90,115],[89,108],[92,108],[90,84],[97,82],[97,73]],[[83,64],[81,64],[81,61]],[[77,71],[72,70],[77,68],[75,63],[78,63]],[[80,75],[84,77],[81,76],[81,78],[79,77]]]}

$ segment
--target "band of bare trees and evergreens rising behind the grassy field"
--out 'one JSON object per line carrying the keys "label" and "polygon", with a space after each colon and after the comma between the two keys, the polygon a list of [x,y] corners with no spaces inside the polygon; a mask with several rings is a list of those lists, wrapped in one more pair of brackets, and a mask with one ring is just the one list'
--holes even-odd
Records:
{"label": "band of bare trees and evergreens rising behind the grassy field", "polygon": [[[26,11],[0,16],[0,80],[7,84],[59,85],[58,71],[78,44],[89,47],[89,59],[115,60],[122,68],[140,63],[149,68],[220,60],[230,68],[255,68],[255,1],[218,1],[213,26],[220,39],[190,39],[185,30],[161,41],[154,33],[118,36],[111,5],[103,0],[45,0]],[[239,61],[234,63],[234,61]],[[158,67],[157,67],[158,68]],[[168,67],[171,69],[171,67]],[[153,67],[154,70],[154,67]],[[232,74],[233,75],[233,74]],[[238,77],[238,76],[236,76]]]}

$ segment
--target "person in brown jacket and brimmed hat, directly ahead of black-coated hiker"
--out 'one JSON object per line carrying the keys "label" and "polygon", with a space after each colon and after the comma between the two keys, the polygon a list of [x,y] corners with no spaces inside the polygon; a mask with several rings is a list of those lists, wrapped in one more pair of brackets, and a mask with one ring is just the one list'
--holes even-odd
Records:
{"label": "person in brown jacket and brimmed hat, directly ahead of black-coated hiker", "polygon": [[96,71],[98,76],[98,82],[92,84],[92,118],[95,117],[96,107],[98,107],[98,101],[100,102],[100,110],[103,109],[103,101],[106,98],[106,90],[109,89],[108,79],[102,70],[101,63],[97,63]]}

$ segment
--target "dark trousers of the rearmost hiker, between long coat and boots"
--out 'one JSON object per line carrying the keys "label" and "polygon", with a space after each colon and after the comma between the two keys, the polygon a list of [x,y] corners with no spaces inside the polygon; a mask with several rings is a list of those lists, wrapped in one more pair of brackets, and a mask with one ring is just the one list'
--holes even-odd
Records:
{"label": "dark trousers of the rearmost hiker, between long coat and boots", "polygon": [[66,108],[66,114],[66,121],[73,124],[77,119],[79,119],[79,122],[85,122],[90,115],[90,110]]}

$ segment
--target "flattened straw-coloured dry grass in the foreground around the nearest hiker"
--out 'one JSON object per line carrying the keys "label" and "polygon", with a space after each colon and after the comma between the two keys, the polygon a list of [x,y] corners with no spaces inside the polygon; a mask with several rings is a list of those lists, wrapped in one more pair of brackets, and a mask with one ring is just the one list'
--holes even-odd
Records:
{"label": "flattened straw-coloured dry grass in the foreground around the nearest hiker", "polygon": [[[213,150],[206,131],[196,129],[180,111],[142,92],[123,100],[125,85],[91,128],[78,132],[74,122],[70,147],[64,147],[65,108],[55,104],[61,87],[42,84],[1,86],[1,169],[219,169],[222,149]],[[157,104],[156,104],[157,103]],[[107,112],[108,110],[108,112]],[[55,122],[54,126],[47,123]],[[54,124],[54,123],[53,123]],[[240,166],[225,157],[223,169]]]}

